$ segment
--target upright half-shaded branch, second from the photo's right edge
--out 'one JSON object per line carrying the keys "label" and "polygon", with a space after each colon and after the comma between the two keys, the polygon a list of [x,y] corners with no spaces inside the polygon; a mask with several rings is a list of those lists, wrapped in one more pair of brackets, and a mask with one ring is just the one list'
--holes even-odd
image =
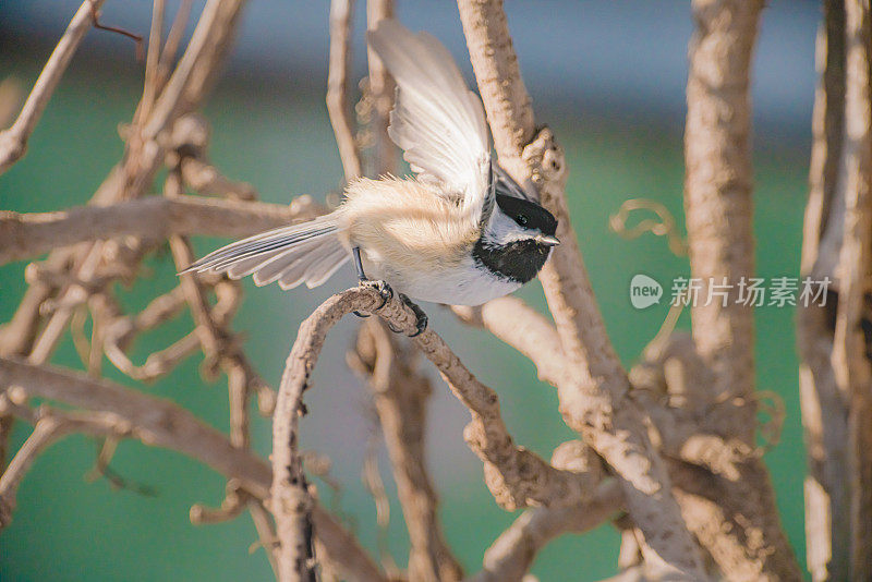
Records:
{"label": "upright half-shaded branch, second from the photo's right edge", "polygon": [[[824,21],[818,33],[819,82],[801,275],[835,279],[845,210],[844,191],[838,189],[845,130],[845,3],[826,0],[823,11]],[[833,243],[827,244],[827,240]],[[799,396],[809,464],[804,486],[806,562],[812,580],[818,582],[847,580],[851,551],[850,494],[844,478],[849,472],[845,454],[848,411],[833,372],[835,330],[828,311],[816,303],[797,306]]]}

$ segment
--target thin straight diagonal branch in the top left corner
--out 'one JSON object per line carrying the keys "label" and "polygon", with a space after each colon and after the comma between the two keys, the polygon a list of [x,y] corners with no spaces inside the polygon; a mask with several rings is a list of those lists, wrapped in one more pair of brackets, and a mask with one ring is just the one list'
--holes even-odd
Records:
{"label": "thin straight diagonal branch in the top left corner", "polygon": [[104,0],[85,0],[51,52],[46,66],[34,84],[31,95],[12,126],[0,132],[0,174],[9,170],[27,150],[27,141],[36,129],[39,118],[48,105],[51,94],[60,83],[85,34],[94,24],[94,12]]}

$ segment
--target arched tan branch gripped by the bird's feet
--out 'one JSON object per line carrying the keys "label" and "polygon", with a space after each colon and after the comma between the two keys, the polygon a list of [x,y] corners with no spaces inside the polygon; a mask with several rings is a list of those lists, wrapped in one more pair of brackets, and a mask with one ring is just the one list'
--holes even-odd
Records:
{"label": "arched tan branch gripped by the bird's feet", "polygon": [[[282,544],[282,580],[293,579],[304,556],[306,512],[311,497],[303,486],[302,463],[296,450],[298,415],[304,410],[303,391],[310,386],[328,330],[352,311],[374,312],[383,303],[372,288],[361,287],[325,301],[300,326],[288,356],[279,389],[272,432],[272,511]],[[377,314],[396,329],[415,332],[414,314],[397,298],[385,303]],[[455,396],[470,409],[472,422],[464,431],[470,448],[485,463],[485,480],[497,501],[506,508],[552,505],[560,499],[584,498],[598,475],[559,470],[531,451],[517,447],[499,413],[496,392],[480,383],[445,341],[432,329],[413,340],[436,366]],[[283,566],[282,560],[287,560]]]}

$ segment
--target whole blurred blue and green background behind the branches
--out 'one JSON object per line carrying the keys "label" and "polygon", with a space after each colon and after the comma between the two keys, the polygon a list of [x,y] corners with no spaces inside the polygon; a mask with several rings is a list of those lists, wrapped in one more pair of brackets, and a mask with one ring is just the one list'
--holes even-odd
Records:
{"label": "whole blurred blue and green background behind the branches", "polygon": [[[76,0],[0,1],[0,81],[29,90],[76,8]],[[195,2],[198,14],[203,2]],[[398,0],[398,16],[412,29],[427,29],[455,53],[472,81],[457,7],[450,1]],[[173,14],[178,1],[168,2]],[[105,4],[102,22],[147,34],[152,2]],[[569,199],[592,283],[609,334],[631,365],[659,328],[675,277],[688,276],[685,257],[674,256],[651,234],[627,241],[608,230],[609,216],[632,197],[658,201],[682,226],[682,130],[690,2],[675,0],[507,0],[509,25],[538,123],[548,123],[565,146],[570,168]],[[205,107],[213,126],[211,157],[231,179],[247,181],[262,198],[287,203],[308,193],[323,199],[341,187],[342,168],[324,105],[327,80],[329,2],[251,2],[226,74]],[[365,74],[364,5],[358,7],[355,78]],[[761,277],[797,277],[807,192],[813,100],[814,38],[819,3],[771,0],[753,66],[754,167],[758,270]],[[195,21],[196,19],[192,19]],[[0,177],[0,209],[48,211],[84,204],[118,161],[119,125],[129,122],[142,92],[144,64],[134,44],[90,31],[33,135],[27,156]],[[198,240],[205,252],[222,240]],[[0,267],[0,322],[8,320],[25,286],[25,264]],[[132,288],[130,306],[170,289],[169,256],[152,259],[145,279]],[[666,301],[643,311],[629,301],[629,281],[643,272],[665,288]],[[331,292],[353,282],[349,268],[315,291],[283,293],[245,281],[247,301],[237,328],[259,372],[277,384],[300,322]],[[521,294],[544,310],[542,290]],[[435,306],[432,325],[467,365],[500,395],[504,415],[520,445],[543,457],[573,438],[557,412],[553,388],[533,366],[479,330],[468,329]],[[681,326],[689,325],[687,315]],[[178,338],[190,322],[162,328],[141,342],[147,354]],[[356,322],[330,336],[307,392],[311,411],[303,446],[328,456],[341,484],[330,492],[335,509],[374,551],[378,546],[403,563],[405,532],[384,451],[380,468],[391,495],[392,520],[378,539],[375,507],[361,484],[366,442],[376,422],[366,388],[347,369],[344,353]],[[763,307],[756,314],[759,388],[786,403],[780,444],[766,456],[784,526],[804,563],[802,478],[804,450],[799,417],[794,312]],[[64,341],[55,363],[81,367]],[[204,383],[197,357],[175,374],[144,387],[187,407],[227,431],[226,385]],[[108,369],[108,368],[107,368]],[[432,369],[429,369],[433,373]],[[484,486],[479,460],[462,440],[468,413],[434,376],[428,416],[429,465],[441,495],[449,544],[467,571],[481,567],[483,551],[516,516],[499,509]],[[111,376],[131,386],[121,375]],[[13,445],[27,436],[19,428]],[[266,454],[270,428],[258,419],[256,448]],[[382,447],[379,445],[379,450]],[[251,521],[193,526],[192,504],[217,505],[225,481],[179,454],[123,442],[112,469],[153,495],[113,490],[105,480],[88,482],[97,446],[71,437],[43,454],[19,493],[12,525],[0,535],[2,580],[270,580],[262,550],[250,553]],[[538,557],[533,573],[543,581],[596,580],[617,572],[618,534],[610,526],[566,535]]]}

